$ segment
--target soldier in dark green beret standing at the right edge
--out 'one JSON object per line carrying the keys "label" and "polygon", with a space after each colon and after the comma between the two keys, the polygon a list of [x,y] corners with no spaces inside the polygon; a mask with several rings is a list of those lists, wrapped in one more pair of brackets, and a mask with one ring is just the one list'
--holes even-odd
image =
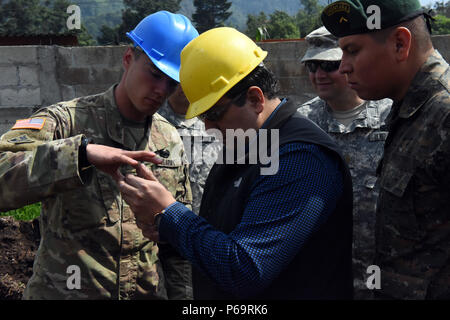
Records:
{"label": "soldier in dark green beret standing at the right edge", "polygon": [[429,20],[418,0],[337,1],[322,13],[350,86],[394,100],[377,170],[380,298],[450,298],[450,69]]}

